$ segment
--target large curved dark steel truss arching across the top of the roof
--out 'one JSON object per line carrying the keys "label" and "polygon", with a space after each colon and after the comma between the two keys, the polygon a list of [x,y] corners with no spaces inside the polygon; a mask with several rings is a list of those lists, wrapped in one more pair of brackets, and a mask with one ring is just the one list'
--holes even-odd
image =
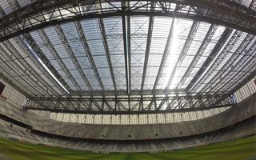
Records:
{"label": "large curved dark steel truss arching across the top of the roof", "polygon": [[[73,1],[70,0],[40,0],[16,10],[0,20],[0,42],[19,34],[25,34],[46,26],[62,24],[63,22],[123,15],[190,18],[256,34],[255,11],[237,2],[226,0],[156,0],[155,10],[151,12],[150,5],[152,1],[138,2],[134,6],[130,5],[129,10],[122,10],[122,6],[117,5],[118,2],[122,2],[121,0],[80,0],[78,6],[75,7],[72,5]],[[102,7],[100,5],[102,3],[109,4],[109,6]],[[164,5],[162,5],[163,3]],[[171,3],[181,6],[177,12],[174,12]],[[102,12],[98,12],[98,9],[95,10],[95,5],[101,6]],[[81,8],[83,10],[80,10]]]}

